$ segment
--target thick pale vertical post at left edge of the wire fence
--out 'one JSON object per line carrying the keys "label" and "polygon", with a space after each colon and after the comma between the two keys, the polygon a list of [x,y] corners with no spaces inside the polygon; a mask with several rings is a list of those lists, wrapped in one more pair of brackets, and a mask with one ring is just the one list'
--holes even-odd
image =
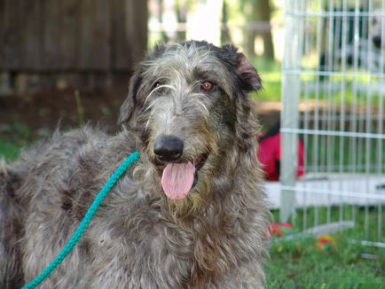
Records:
{"label": "thick pale vertical post at left edge of the wire fence", "polygon": [[297,167],[297,134],[290,129],[297,129],[299,122],[298,104],[300,97],[301,56],[303,50],[303,20],[295,17],[295,12],[302,12],[303,1],[285,2],[285,53],[282,62],[282,138],[279,219],[287,222],[295,214],[295,191],[285,187],[295,187],[295,169]]}

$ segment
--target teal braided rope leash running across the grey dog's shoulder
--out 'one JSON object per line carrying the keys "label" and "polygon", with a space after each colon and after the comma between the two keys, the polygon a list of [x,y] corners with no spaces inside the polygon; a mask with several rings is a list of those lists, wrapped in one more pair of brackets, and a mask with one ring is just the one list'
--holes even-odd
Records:
{"label": "teal braided rope leash running across the grey dog's shoulder", "polygon": [[43,269],[43,272],[40,273],[39,276],[35,277],[35,279],[33,279],[27,285],[24,285],[21,289],[34,289],[37,285],[42,283],[46,277],[49,277],[54,269],[57,269],[59,267],[61,262],[63,262],[64,258],[67,257],[67,254],[69,254],[72,251],[72,249],[74,249],[79,239],[82,238],[84,231],[87,229],[88,225],[90,224],[90,220],[98,211],[98,207],[106,198],[106,195],[108,194],[108,192],[111,191],[114,184],[124,174],[127,168],[129,168],[138,159],[139,159],[139,152],[138,151],[133,152],[130,154],[129,157],[127,157],[126,160],[122,162],[122,164],[118,168],[116,168],[116,170],[114,171],[114,174],[110,176],[110,178],[106,181],[106,184],[98,192],[98,195],[93,200],[87,213],[84,215],[82,222],[79,224],[74,234],[67,242],[66,246],[64,246],[63,250],[61,250],[61,252],[56,256],[56,258],[51,262],[50,265],[48,265],[45,269]]}

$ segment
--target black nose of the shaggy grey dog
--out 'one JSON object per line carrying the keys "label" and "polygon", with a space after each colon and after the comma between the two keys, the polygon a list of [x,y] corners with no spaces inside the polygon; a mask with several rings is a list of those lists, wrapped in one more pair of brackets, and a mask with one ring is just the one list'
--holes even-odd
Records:
{"label": "black nose of the shaggy grey dog", "polygon": [[153,153],[159,160],[177,160],[183,153],[183,147],[184,143],[179,138],[162,135],[156,138],[155,144],[153,144]]}

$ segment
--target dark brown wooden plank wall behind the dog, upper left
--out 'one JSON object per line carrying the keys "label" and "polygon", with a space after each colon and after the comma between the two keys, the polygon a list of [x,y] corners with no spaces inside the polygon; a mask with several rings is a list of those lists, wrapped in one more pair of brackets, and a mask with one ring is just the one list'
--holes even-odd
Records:
{"label": "dark brown wooden plank wall behind the dog, upper left", "polygon": [[130,72],[144,55],[146,1],[0,0],[0,70]]}

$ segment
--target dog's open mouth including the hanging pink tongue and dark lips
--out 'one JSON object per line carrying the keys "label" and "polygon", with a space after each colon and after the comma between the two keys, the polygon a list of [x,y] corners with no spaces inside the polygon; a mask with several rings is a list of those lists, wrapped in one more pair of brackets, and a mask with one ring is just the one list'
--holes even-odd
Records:
{"label": "dog's open mouth including the hanging pink tongue and dark lips", "polygon": [[167,162],[160,166],[161,187],[169,199],[185,199],[198,183],[198,172],[208,160],[208,153],[197,160]]}

